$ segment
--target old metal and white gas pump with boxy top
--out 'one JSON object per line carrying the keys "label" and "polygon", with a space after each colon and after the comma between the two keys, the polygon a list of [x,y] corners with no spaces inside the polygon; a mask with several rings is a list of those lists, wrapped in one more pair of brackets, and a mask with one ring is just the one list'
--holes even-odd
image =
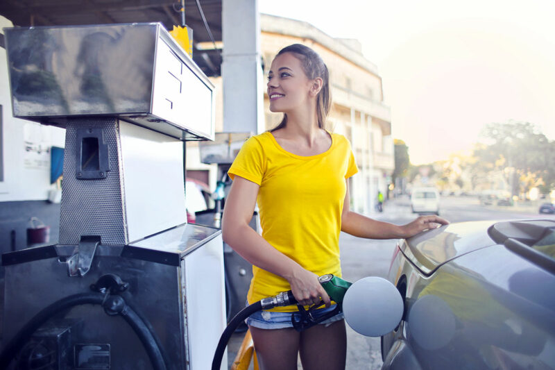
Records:
{"label": "old metal and white gas pump with boxy top", "polygon": [[184,168],[214,140],[214,86],[161,24],[5,37],[15,117],[66,144],[58,244],[2,255],[0,368],[208,369],[223,242],[187,224]]}

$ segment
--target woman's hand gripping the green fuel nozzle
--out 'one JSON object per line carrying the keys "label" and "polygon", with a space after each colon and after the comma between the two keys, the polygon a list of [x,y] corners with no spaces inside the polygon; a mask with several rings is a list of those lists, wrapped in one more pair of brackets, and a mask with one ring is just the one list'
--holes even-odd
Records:
{"label": "woman's hand gripping the green fuel nozzle", "polygon": [[301,305],[314,305],[323,301],[330,307],[331,299],[318,281],[318,275],[299,267],[287,278],[293,296]]}

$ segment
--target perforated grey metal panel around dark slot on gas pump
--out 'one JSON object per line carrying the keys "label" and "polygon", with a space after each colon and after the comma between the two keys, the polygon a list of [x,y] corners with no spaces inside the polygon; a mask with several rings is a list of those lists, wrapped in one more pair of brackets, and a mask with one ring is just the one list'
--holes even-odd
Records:
{"label": "perforated grey metal panel around dark slot on gas pump", "polygon": [[[110,171],[103,179],[76,178],[78,128],[101,128],[108,144]],[[81,235],[99,235],[103,245],[127,244],[119,122],[82,118],[67,123],[60,212],[60,244],[78,244]]]}

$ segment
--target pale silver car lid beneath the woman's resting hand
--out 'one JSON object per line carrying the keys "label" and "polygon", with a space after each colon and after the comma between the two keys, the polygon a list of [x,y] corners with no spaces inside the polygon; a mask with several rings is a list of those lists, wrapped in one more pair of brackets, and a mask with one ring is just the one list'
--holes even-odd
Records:
{"label": "pale silver car lid beneath the woman's resting hand", "polygon": [[427,230],[400,242],[400,249],[422,274],[432,274],[442,264],[461,255],[497,244],[488,228],[496,221],[470,221]]}

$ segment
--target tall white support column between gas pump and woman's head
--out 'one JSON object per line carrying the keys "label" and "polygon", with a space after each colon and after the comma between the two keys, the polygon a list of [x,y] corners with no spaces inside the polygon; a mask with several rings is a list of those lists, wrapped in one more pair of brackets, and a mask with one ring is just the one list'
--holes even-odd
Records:
{"label": "tall white support column between gas pump and woman's head", "polygon": [[258,0],[222,1],[223,131],[264,131]]}

